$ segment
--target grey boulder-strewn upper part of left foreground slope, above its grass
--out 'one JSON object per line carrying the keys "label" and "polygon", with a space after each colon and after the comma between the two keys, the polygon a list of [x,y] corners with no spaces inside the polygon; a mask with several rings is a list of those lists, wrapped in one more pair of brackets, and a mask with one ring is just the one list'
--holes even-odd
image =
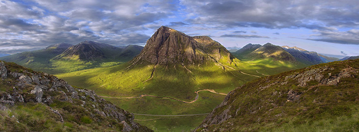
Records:
{"label": "grey boulder-strewn upper part of left foreground slope, above its grass", "polygon": [[[103,118],[113,118],[119,124],[123,124],[122,132],[151,132],[148,128],[134,122],[132,113],[122,110],[103,98],[98,97],[93,90],[73,88],[67,82],[46,73],[30,72],[27,70],[21,70],[22,72],[19,73],[14,70],[8,70],[11,68],[12,66],[0,62],[1,78],[7,78],[7,83],[10,87],[13,85],[12,89],[0,92],[0,110],[7,109],[4,104],[14,106],[18,102],[43,103],[50,106],[55,100],[59,100],[78,106],[79,104],[77,103],[82,101],[83,104],[81,106],[85,110],[93,110]],[[84,104],[93,105],[86,106]],[[60,116],[59,120],[63,122],[61,112],[53,110],[51,107],[49,109],[58,114]],[[90,114],[93,115],[93,113]],[[96,121],[101,120],[97,116],[92,116],[91,118]]]}

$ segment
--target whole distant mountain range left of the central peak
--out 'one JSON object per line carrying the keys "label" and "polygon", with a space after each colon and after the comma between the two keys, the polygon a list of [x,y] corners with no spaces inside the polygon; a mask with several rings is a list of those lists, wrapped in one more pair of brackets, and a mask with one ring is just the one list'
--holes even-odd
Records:
{"label": "whole distant mountain range left of the central peak", "polygon": [[76,45],[59,43],[41,50],[0,57],[0,60],[48,73],[61,73],[127,62],[138,55],[142,48],[138,45],[120,48],[93,41]]}

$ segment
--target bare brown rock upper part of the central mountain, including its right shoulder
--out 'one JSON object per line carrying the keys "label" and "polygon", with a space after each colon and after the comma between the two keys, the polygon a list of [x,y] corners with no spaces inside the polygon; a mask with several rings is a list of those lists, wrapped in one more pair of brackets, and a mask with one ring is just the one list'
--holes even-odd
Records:
{"label": "bare brown rock upper part of the central mountain, including its right shoulder", "polygon": [[[199,41],[197,41],[199,40]],[[213,49],[216,48],[216,49]],[[209,37],[190,37],[175,29],[161,26],[147,41],[141,53],[131,63],[136,64],[198,64],[212,60],[209,55],[228,52]],[[221,51],[222,50],[222,51]],[[229,53],[230,54],[230,53]],[[215,59],[220,58],[220,55]]]}

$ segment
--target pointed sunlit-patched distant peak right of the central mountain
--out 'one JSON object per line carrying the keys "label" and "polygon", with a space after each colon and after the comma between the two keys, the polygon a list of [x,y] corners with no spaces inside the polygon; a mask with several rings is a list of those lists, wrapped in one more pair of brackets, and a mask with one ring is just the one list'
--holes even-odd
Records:
{"label": "pointed sunlit-patched distant peak right of the central mountain", "polygon": [[296,62],[296,59],[282,47],[270,43],[260,46],[247,56],[251,59],[273,58],[278,61]]}

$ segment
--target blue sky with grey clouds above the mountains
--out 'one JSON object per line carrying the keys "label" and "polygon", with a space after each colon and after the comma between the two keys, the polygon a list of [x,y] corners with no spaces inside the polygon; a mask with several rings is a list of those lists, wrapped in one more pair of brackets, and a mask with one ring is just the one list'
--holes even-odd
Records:
{"label": "blue sky with grey clouds above the mountains", "polygon": [[161,25],[226,47],[359,55],[359,0],[0,0],[0,53],[92,40],[144,45]]}

